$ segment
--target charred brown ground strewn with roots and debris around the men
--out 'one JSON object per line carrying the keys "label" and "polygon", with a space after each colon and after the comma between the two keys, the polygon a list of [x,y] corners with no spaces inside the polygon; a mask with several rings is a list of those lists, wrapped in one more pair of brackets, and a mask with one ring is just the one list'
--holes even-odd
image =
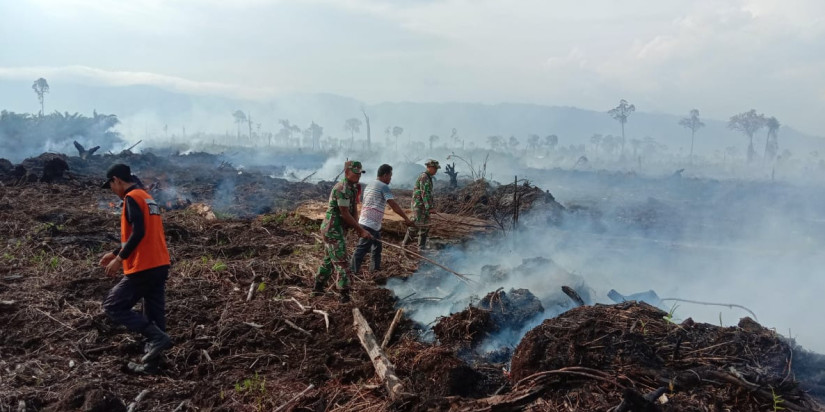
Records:
{"label": "charred brown ground strewn with roots and debris around the men", "polygon": [[[174,347],[160,375],[124,370],[143,343],[100,305],[113,281],[97,260],[117,241],[120,209],[98,186],[115,162],[143,171],[167,209]],[[323,202],[328,183],[239,171],[207,154],[128,151],[0,160],[0,181],[0,411],[822,409],[822,356],[749,318],[733,327],[677,324],[647,304],[578,306],[580,297],[560,303],[566,312],[514,349],[482,353],[486,336],[529,325],[546,308],[530,291],[502,289],[441,318],[431,341],[422,339],[425,325],[404,317],[393,329],[398,298],[381,284],[420,263],[394,248],[384,249],[380,276],[356,274],[351,303],[331,291],[313,298],[318,222],[295,210]],[[568,213],[524,181],[438,190],[455,200],[441,212],[499,228],[512,227],[519,211],[542,211],[544,224]],[[389,230],[386,239],[397,243],[402,233]],[[525,261],[516,270],[548,265]],[[481,275],[503,279],[508,271]],[[353,308],[387,342],[403,396],[390,396],[378,378]]]}

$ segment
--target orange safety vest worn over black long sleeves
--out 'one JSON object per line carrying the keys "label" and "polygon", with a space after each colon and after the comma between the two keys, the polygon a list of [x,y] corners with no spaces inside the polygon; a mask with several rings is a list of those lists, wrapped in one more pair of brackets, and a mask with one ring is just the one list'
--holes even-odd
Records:
{"label": "orange safety vest worn over black long sleeves", "polygon": [[[163,233],[163,221],[160,218],[160,207],[149,193],[143,189],[132,189],[126,197],[134,199],[143,213],[143,226],[146,229],[143,239],[135,250],[123,260],[123,273],[130,275],[136,272],[168,266],[169,249],[166,248],[166,235]],[[126,245],[132,235],[132,225],[126,220],[126,201],[123,202],[123,213],[120,214],[120,242],[121,247]]]}

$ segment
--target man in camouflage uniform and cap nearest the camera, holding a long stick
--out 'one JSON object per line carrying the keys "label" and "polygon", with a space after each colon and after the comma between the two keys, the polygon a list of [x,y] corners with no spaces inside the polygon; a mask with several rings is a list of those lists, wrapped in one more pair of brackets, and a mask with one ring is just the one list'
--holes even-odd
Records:
{"label": "man in camouflage uniform and cap nearest the camera, holding a long stick", "polygon": [[341,302],[349,302],[349,275],[350,268],[347,259],[347,244],[344,236],[344,227],[351,227],[358,231],[363,238],[372,238],[364,228],[358,225],[357,214],[358,181],[361,180],[361,162],[348,161],[344,164],[344,178],[332,187],[329,194],[324,222],[321,223],[321,236],[324,239],[324,262],[315,275],[314,295],[324,293],[327,280],[333,270],[338,273],[338,292]]}

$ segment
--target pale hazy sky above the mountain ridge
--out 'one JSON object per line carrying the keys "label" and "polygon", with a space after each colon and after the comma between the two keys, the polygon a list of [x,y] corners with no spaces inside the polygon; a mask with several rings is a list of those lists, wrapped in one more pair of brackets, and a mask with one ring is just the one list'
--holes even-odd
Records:
{"label": "pale hazy sky above the mountain ridge", "polygon": [[[525,102],[823,135],[821,0],[0,0],[0,79]],[[54,86],[53,86],[54,87]]]}

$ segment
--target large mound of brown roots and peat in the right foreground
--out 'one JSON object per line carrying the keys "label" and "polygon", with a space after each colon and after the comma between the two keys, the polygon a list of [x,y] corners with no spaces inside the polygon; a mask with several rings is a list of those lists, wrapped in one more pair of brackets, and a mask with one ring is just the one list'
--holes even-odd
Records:
{"label": "large mound of brown roots and peat in the right foreground", "polygon": [[[562,410],[821,410],[789,369],[792,346],[750,318],[718,327],[646,303],[572,309],[525,335],[509,394]],[[624,408],[624,409],[622,409]]]}

